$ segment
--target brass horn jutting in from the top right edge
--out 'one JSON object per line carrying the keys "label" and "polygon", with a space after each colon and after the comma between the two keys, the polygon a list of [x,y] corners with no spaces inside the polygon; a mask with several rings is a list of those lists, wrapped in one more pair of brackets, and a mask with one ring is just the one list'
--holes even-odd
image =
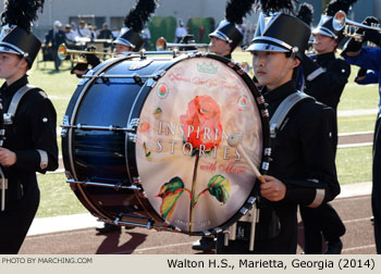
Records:
{"label": "brass horn jutting in from the top right edge", "polygon": [[333,16],[332,24],[335,30],[341,30],[344,28],[344,32],[343,32],[344,36],[351,37],[356,41],[362,41],[364,39],[362,34],[356,33],[358,28],[366,28],[366,29],[373,29],[376,32],[381,32],[380,26],[368,26],[368,25],[348,20],[346,17],[345,12],[343,11],[336,12],[336,14]]}

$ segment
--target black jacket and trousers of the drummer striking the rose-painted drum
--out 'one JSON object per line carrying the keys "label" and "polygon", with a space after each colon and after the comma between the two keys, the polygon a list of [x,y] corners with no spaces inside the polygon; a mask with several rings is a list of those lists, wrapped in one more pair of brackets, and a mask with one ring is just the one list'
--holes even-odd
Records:
{"label": "black jacket and trousers of the drummer striking the rose-painted drum", "polygon": [[[279,104],[295,91],[293,82],[271,91],[262,90],[270,119]],[[307,99],[291,110],[276,137],[271,139],[272,160],[268,174],[285,184],[286,194],[281,201],[270,202],[279,217],[281,232],[278,237],[256,242],[258,253],[295,253],[297,204],[309,205],[317,200],[321,204],[339,195],[332,147],[334,125],[335,115],[331,108]],[[259,222],[259,231],[266,231],[266,227],[260,227],[266,225],[266,222]]]}

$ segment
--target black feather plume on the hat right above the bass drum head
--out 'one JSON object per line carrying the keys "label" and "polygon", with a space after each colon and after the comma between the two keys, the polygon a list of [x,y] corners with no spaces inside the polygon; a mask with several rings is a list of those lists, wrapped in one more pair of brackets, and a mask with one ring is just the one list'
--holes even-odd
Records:
{"label": "black feather plume on the hat right above the bass drum head", "polygon": [[226,3],[225,18],[232,24],[242,24],[247,13],[253,11],[256,0],[230,0]]}

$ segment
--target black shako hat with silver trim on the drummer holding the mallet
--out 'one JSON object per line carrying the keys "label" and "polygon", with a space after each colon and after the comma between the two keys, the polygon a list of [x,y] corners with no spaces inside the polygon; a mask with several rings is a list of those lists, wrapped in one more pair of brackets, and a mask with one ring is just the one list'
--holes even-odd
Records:
{"label": "black shako hat with silver trim on the drummer holding the mallet", "polygon": [[293,15],[292,1],[260,1],[257,29],[247,51],[293,52],[297,58],[308,47],[309,26]]}

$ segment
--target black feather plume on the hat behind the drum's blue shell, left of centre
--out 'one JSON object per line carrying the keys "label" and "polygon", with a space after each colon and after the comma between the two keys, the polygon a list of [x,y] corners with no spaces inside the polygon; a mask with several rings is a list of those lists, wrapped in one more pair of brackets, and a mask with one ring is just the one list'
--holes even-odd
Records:
{"label": "black feather plume on the hat behind the drum's blue shell, left of centre", "polygon": [[138,0],[127,16],[125,16],[124,25],[134,29],[136,33],[140,33],[157,7],[158,0]]}

